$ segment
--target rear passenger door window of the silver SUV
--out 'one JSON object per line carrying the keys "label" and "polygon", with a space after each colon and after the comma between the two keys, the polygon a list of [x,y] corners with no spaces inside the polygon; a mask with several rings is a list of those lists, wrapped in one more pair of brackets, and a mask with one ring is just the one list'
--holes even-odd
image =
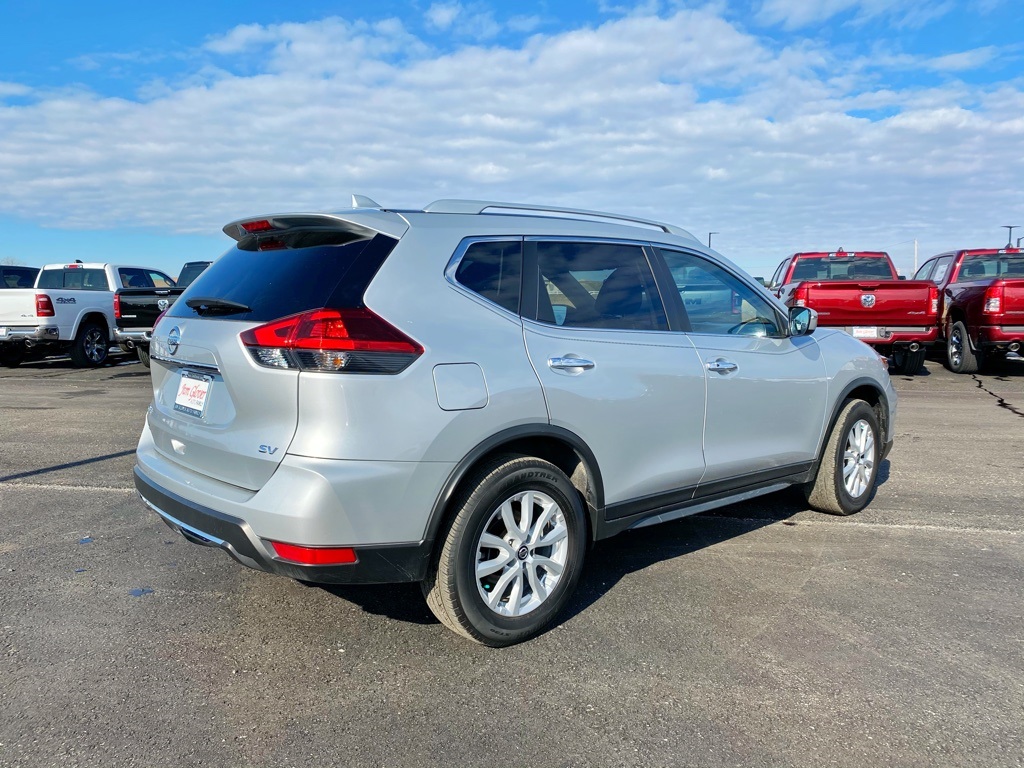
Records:
{"label": "rear passenger door window of the silver SUV", "polygon": [[640,246],[553,242],[527,247],[537,250],[540,322],[566,328],[669,330]]}

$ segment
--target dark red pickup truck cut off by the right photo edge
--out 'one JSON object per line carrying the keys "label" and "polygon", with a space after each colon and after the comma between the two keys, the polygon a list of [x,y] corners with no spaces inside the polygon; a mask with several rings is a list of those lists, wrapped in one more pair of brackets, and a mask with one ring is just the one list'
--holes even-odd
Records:
{"label": "dark red pickup truck cut off by the right photo edge", "polygon": [[914,278],[938,286],[939,331],[950,371],[973,374],[1024,346],[1024,249],[940,253]]}

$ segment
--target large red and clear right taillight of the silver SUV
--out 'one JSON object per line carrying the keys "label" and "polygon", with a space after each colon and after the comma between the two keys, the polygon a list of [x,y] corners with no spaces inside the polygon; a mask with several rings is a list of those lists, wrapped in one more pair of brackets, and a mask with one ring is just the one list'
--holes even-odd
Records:
{"label": "large red and clear right taillight of the silver SUV", "polygon": [[423,347],[369,309],[313,309],[245,331],[242,343],[266,368],[397,374]]}

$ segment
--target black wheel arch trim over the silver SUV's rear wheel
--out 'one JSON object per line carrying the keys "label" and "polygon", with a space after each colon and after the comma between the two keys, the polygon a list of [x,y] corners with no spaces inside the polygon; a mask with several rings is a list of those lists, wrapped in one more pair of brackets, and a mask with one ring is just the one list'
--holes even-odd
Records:
{"label": "black wheel arch trim over the silver SUV's rear wheel", "polygon": [[593,531],[597,530],[598,527],[598,517],[604,510],[604,482],[601,478],[601,469],[597,464],[597,458],[594,456],[594,453],[587,446],[587,443],[584,442],[580,435],[570,432],[564,427],[557,427],[553,424],[523,424],[493,434],[483,442],[478,443],[456,465],[444,481],[440,494],[434,500],[433,507],[430,510],[430,517],[427,519],[427,527],[423,537],[424,541],[432,543],[436,540],[437,531],[444,520],[452,497],[469,471],[480,459],[501,449],[503,445],[531,437],[554,438],[564,442],[577,452],[582,457],[584,464],[587,465],[594,498],[592,503],[585,502],[584,506],[587,510],[587,516],[590,518],[591,538],[593,538]]}

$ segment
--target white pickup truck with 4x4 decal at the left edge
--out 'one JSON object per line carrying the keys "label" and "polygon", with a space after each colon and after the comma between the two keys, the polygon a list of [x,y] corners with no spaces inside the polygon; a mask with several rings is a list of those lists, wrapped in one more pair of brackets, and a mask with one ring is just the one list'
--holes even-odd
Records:
{"label": "white pickup truck with 4x4 decal at the left edge", "polygon": [[157,269],[120,264],[47,264],[35,288],[0,291],[0,365],[20,365],[30,351],[70,352],[77,368],[101,366],[114,339],[119,288],[174,287]]}

